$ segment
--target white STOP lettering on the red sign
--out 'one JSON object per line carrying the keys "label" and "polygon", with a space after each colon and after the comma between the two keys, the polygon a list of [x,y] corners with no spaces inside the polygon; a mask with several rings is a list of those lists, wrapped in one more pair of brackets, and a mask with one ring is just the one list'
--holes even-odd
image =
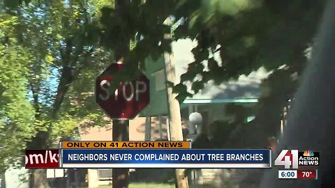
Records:
{"label": "white STOP lettering on the red sign", "polygon": [[[135,84],[133,84],[135,82]],[[112,95],[114,95],[114,100],[119,100],[119,91],[121,90],[121,97],[124,97],[124,100],[131,101],[135,96],[135,101],[139,100],[140,93],[145,93],[147,91],[147,84],[144,81],[133,81],[125,82],[124,84],[120,83],[121,88],[118,88],[114,93],[110,90],[110,81],[102,80],[100,82],[101,89],[105,91],[103,94],[99,94],[101,100],[108,100]],[[135,86],[134,86],[135,85]],[[130,93],[127,95],[127,88],[130,89]]]}

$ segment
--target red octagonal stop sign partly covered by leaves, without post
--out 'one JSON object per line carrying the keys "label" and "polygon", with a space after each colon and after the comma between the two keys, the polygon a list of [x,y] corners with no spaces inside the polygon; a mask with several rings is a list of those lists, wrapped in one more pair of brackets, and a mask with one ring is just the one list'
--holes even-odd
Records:
{"label": "red octagonal stop sign partly covered by leaves, without post", "polygon": [[109,87],[121,68],[122,64],[112,63],[96,78],[96,102],[112,119],[132,119],[149,104],[149,79],[142,73],[113,92]]}

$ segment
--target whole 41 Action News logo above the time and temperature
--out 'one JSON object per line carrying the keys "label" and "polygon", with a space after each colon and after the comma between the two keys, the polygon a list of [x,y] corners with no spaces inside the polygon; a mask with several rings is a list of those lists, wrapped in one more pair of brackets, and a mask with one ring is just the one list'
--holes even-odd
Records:
{"label": "whole 41 Action News logo above the time and temperature", "polygon": [[299,166],[318,166],[319,165],[319,152],[306,150],[299,152],[298,150],[281,150],[274,166],[284,166],[285,169],[298,169]]}

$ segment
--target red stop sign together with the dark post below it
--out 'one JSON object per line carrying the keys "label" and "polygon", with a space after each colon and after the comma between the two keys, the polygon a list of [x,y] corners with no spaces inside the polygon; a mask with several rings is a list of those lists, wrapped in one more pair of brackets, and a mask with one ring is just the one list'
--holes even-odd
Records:
{"label": "red stop sign together with the dark post below it", "polygon": [[[121,62],[112,63],[96,78],[96,102],[113,120],[113,141],[129,141],[129,120],[150,101],[149,79],[144,74],[139,79],[119,83],[116,90],[110,88],[122,68]],[[128,187],[129,169],[113,169],[112,174],[114,188]]]}

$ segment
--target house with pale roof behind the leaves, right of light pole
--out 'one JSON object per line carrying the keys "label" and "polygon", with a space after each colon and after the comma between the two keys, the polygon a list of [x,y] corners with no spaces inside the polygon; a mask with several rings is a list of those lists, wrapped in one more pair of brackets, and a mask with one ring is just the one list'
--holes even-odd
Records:
{"label": "house with pale roof behind the leaves, right of light pole", "polygon": [[[194,61],[191,49],[197,44],[191,40],[178,40],[172,45],[176,63],[176,75],[180,78],[187,70],[188,63]],[[214,59],[219,63],[218,54],[213,54]],[[207,63],[204,63],[205,68]],[[237,80],[230,80],[219,86],[209,81],[202,91],[187,98],[181,104],[181,116],[188,118],[192,112],[202,114],[202,132],[209,137],[212,134],[211,125],[217,120],[232,120],[234,116],[227,113],[229,104],[239,104],[247,107],[255,107],[260,97],[260,84],[262,79],[267,78],[269,72],[260,68],[251,72],[250,75],[241,75]],[[179,82],[179,81],[178,81]],[[191,85],[188,85],[191,88]],[[253,114],[246,119],[252,120]],[[211,185],[216,187],[236,187],[244,179],[244,172],[234,169],[201,169],[193,171],[190,177],[190,185],[204,186]]]}

